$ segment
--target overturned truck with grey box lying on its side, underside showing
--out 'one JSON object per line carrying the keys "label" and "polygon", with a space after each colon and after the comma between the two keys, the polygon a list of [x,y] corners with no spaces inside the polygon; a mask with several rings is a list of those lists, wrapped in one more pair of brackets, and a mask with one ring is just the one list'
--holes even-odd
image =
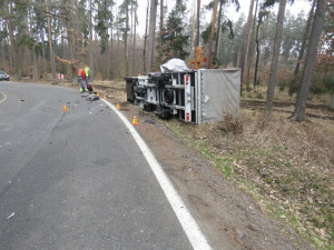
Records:
{"label": "overturned truck with grey box lying on its side, underside showing", "polygon": [[189,123],[238,116],[240,69],[199,69],[127,77],[127,100],[160,118]]}

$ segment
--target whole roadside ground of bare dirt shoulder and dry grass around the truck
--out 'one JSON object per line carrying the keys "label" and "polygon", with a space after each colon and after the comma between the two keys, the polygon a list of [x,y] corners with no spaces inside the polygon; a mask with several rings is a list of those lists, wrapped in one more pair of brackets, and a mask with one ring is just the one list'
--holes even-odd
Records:
{"label": "whole roadside ground of bare dirt shoulder and dry grass around the truck", "polygon": [[193,126],[160,120],[126,102],[124,81],[92,86],[119,102],[130,121],[138,118],[136,129],[214,249],[334,249],[328,97],[310,98],[308,122],[289,122],[294,98],[277,91],[268,119],[258,88],[243,92],[238,118]]}

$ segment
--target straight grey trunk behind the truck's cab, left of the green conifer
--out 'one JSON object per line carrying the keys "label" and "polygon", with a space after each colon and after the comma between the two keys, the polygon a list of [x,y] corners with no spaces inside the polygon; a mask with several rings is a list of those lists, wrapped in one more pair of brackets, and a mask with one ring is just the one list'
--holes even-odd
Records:
{"label": "straight grey trunk behind the truck's cab, left of the green conifer", "polygon": [[156,37],[156,18],[157,18],[158,0],[150,1],[150,14],[149,14],[149,37],[148,37],[148,50],[147,50],[147,73],[151,71],[155,37]]}

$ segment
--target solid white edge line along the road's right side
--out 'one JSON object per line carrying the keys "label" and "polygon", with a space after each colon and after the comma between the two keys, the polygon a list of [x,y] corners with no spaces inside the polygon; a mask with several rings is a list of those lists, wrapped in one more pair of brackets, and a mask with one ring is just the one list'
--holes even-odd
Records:
{"label": "solid white edge line along the road's right side", "polygon": [[125,123],[125,126],[128,128],[130,133],[132,134],[135,141],[137,142],[138,147],[140,148],[144,157],[146,158],[148,164],[150,166],[153,172],[155,173],[161,189],[164,190],[174,212],[177,216],[177,219],[179,220],[184,231],[186,232],[193,248],[195,250],[212,250],[212,247],[208,244],[205,236],[200,231],[198,224],[196,223],[195,219],[190,214],[189,210],[186,208],[184,201],[178,196],[177,191],[173,187],[170,180],[164,172],[161,166],[154,157],[153,152],[149,150],[145,141],[141,139],[139,133],[136,131],[136,129],[132,127],[132,124],[127,120],[127,118],[116,109],[115,106],[112,106],[110,102],[102,100],[107,106],[112,109],[117,116],[120,118],[120,120]]}

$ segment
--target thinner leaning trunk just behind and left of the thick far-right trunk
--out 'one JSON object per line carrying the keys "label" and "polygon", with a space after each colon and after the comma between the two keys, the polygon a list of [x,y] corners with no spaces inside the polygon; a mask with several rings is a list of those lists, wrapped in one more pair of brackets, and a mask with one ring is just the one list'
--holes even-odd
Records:
{"label": "thinner leaning trunk just behind and left of the thick far-right trunk", "polygon": [[301,61],[304,57],[304,51],[305,51],[305,47],[306,47],[306,41],[307,41],[307,37],[308,37],[308,31],[310,31],[310,27],[311,27],[311,21],[312,21],[312,17],[313,17],[313,12],[314,12],[315,2],[316,2],[316,0],[313,0],[312,8],[310,10],[308,18],[307,18],[307,21],[306,21],[306,27],[305,27],[305,31],[304,31],[304,36],[303,36],[303,42],[302,42],[302,46],[301,46],[301,51],[299,51],[297,63],[296,63],[295,71],[294,71],[294,79],[289,83],[288,96],[291,96],[291,97],[294,93],[294,89],[295,89],[295,84],[296,84],[296,80],[297,80],[296,78],[297,78],[297,74],[298,74],[298,71],[299,71]]}

